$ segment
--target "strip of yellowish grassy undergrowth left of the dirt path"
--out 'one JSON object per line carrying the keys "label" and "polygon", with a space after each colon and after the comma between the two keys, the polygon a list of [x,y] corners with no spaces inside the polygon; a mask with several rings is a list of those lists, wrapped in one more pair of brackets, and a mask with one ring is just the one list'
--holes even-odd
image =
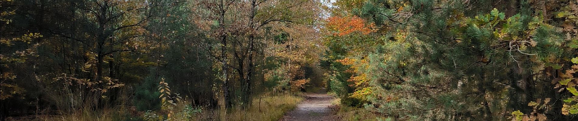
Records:
{"label": "strip of yellowish grassy undergrowth left of the dirt path", "polygon": [[[99,111],[81,110],[64,115],[38,115],[26,119],[12,120],[62,120],[62,121],[143,121],[143,120],[227,120],[227,121],[268,121],[279,120],[286,112],[297,107],[302,97],[294,95],[263,96],[254,99],[246,110],[236,107],[226,110],[210,110],[191,107],[188,104],[173,105],[170,111],[139,112],[131,107],[115,107]],[[169,114],[171,114],[169,118]],[[10,118],[8,119],[10,120]]]}

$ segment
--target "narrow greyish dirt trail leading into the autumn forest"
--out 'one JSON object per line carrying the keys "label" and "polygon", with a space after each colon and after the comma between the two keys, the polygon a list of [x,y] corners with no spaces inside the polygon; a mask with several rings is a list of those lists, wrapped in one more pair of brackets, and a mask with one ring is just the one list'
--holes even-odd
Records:
{"label": "narrow greyish dirt trail leading into the autumn forest", "polygon": [[288,112],[280,121],[338,120],[331,111],[331,101],[334,96],[319,93],[307,94],[305,100],[297,105],[295,110]]}

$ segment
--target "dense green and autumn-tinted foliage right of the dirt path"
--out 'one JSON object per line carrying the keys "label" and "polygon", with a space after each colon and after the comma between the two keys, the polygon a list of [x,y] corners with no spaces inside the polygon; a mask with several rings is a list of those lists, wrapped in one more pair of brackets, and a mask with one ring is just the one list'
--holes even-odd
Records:
{"label": "dense green and autumn-tinted foliage right of the dirt path", "polygon": [[[573,1],[561,4],[575,6]],[[577,52],[576,32],[568,27],[575,26],[573,21],[545,18],[571,19],[570,13],[552,16],[558,12],[542,13],[536,9],[542,7],[536,5],[535,1],[374,0],[353,9],[336,9],[341,13],[334,12],[334,16],[358,15],[377,25],[378,30],[369,36],[326,34],[327,53],[332,53],[326,56],[333,58],[324,63],[332,71],[327,78],[344,78],[332,84],[338,86],[332,87],[335,89],[361,91],[370,87],[369,102],[362,104],[383,115],[400,115],[393,120],[508,120],[498,112],[514,110],[519,110],[512,115],[520,120],[523,116],[546,120],[546,114],[564,110],[552,110],[546,103],[539,107],[524,104],[534,100],[531,97],[573,95],[573,88],[564,86],[574,86],[574,79],[556,79],[555,73],[573,73],[564,70],[573,66],[569,62]],[[520,7],[507,9],[512,6]],[[338,48],[332,48],[335,46]],[[367,63],[352,64],[360,67],[353,72],[329,66],[343,58]],[[339,77],[342,73],[350,75]],[[369,85],[343,84],[347,83],[343,80],[353,79],[351,75],[366,75]],[[535,92],[538,90],[543,92]],[[567,107],[570,112],[572,106]],[[524,115],[532,108],[544,114]],[[549,115],[547,119],[560,117]]]}

